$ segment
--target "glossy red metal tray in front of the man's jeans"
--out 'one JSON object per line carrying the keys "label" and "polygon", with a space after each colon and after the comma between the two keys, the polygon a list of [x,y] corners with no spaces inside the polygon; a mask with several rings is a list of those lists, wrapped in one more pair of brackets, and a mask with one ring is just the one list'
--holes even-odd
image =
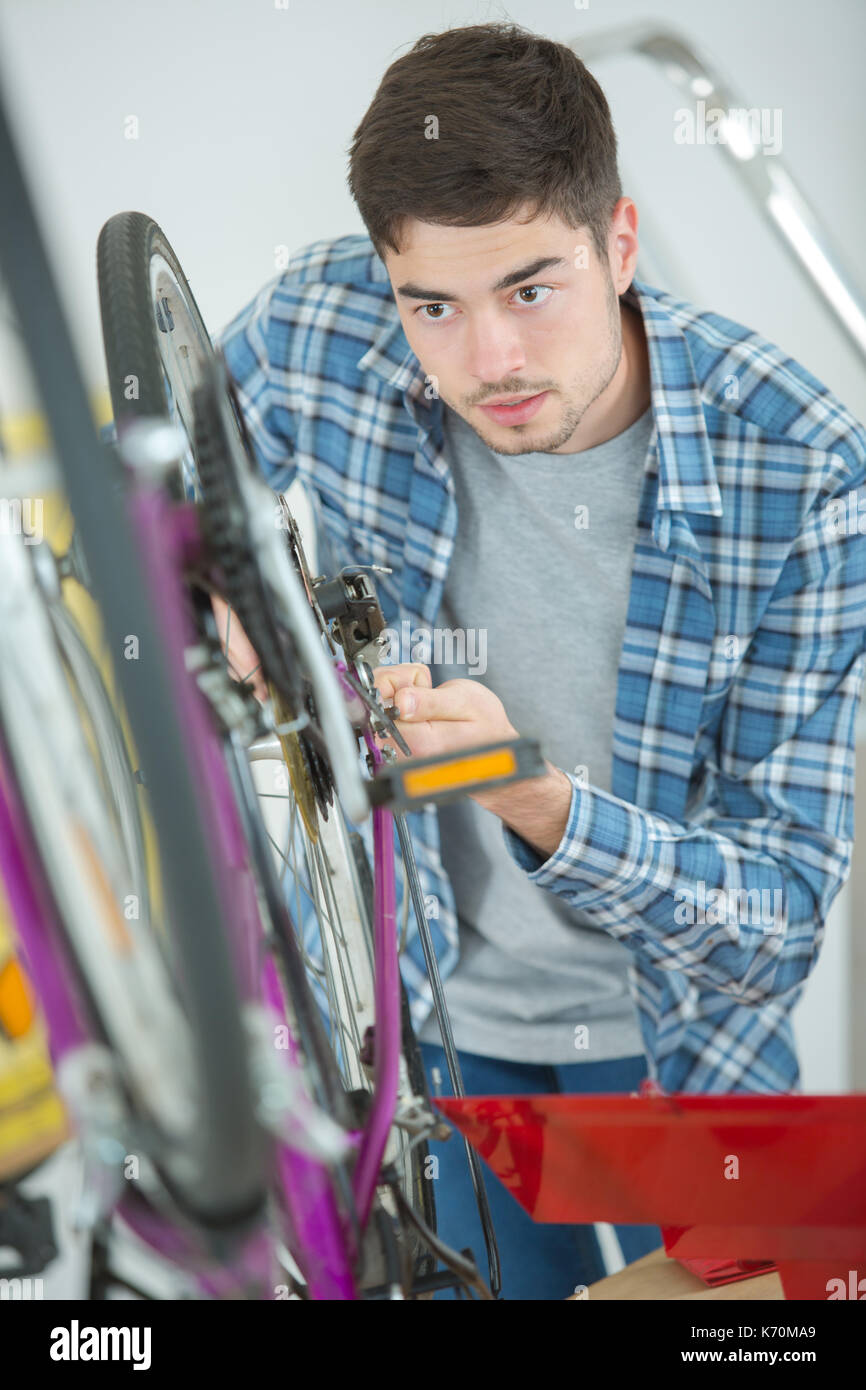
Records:
{"label": "glossy red metal tray in front of the man's jeans", "polygon": [[708,1283],[755,1262],[785,1298],[866,1295],[866,1095],[641,1090],[436,1105],[534,1220],[652,1223]]}

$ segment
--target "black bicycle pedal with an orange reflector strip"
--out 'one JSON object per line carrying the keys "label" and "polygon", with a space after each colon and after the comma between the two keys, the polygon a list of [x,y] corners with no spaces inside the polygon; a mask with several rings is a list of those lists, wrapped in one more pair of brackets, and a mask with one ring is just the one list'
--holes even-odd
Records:
{"label": "black bicycle pedal with an orange reflector strip", "polygon": [[505,787],[527,777],[542,777],[546,763],[535,738],[510,738],[480,744],[446,756],[402,758],[381,763],[370,783],[370,803],[391,810],[413,810],[428,803],[456,801],[485,787]]}

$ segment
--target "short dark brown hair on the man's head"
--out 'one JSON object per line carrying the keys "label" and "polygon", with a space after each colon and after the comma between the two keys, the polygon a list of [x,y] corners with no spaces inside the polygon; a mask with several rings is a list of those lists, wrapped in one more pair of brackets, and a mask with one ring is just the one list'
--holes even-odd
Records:
{"label": "short dark brown hair on the man's head", "polygon": [[605,93],[571,49],[477,24],[425,33],[391,64],[354,132],[349,189],[381,259],[399,254],[405,218],[487,227],[530,203],[588,227],[606,265],[616,150]]}

